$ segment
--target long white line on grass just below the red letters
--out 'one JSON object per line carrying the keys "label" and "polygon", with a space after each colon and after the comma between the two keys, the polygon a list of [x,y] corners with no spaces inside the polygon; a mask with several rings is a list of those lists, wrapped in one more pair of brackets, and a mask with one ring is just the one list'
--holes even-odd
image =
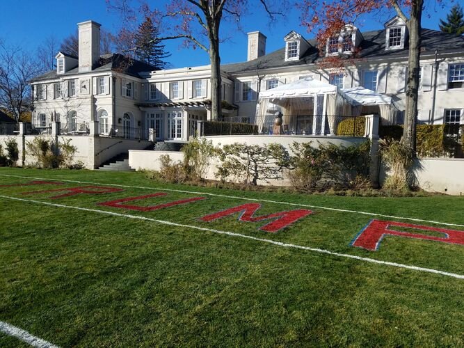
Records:
{"label": "long white line on grass just below the red letters", "polygon": [[63,204],[57,204],[57,203],[41,202],[39,200],[27,200],[27,199],[23,199],[23,198],[16,198],[16,197],[2,196],[2,195],[0,195],[0,198],[6,198],[6,199],[10,199],[10,200],[19,200],[21,202],[49,205],[51,207],[76,209],[76,210],[81,210],[83,212],[95,212],[95,213],[99,213],[99,214],[107,214],[107,215],[112,215],[112,216],[125,217],[127,219],[138,219],[138,220],[143,220],[143,221],[152,221],[152,222],[155,222],[155,223],[168,225],[168,226],[190,228],[190,229],[193,229],[193,230],[200,230],[200,231],[218,233],[219,235],[229,235],[229,236],[232,236],[232,237],[241,237],[241,238],[246,238],[246,239],[252,239],[252,240],[257,241],[257,242],[264,242],[264,243],[273,244],[273,245],[276,245],[276,246],[283,246],[285,248],[296,248],[296,249],[301,249],[301,250],[305,250],[305,251],[314,251],[316,253],[322,253],[322,254],[326,254],[326,255],[333,255],[333,256],[337,256],[339,258],[349,258],[349,259],[353,259],[353,260],[360,260],[360,261],[371,262],[371,263],[375,263],[375,264],[385,264],[387,266],[393,266],[393,267],[399,267],[399,268],[405,268],[405,269],[413,269],[415,271],[423,271],[423,272],[428,272],[428,273],[433,273],[433,274],[441,274],[442,276],[450,276],[450,277],[453,277],[453,278],[464,279],[464,275],[462,275],[462,274],[455,274],[455,273],[450,273],[450,272],[446,272],[446,271],[440,271],[438,269],[429,269],[429,268],[424,268],[424,267],[411,266],[409,264],[400,264],[400,263],[396,263],[396,262],[387,262],[387,261],[375,260],[375,259],[371,259],[371,258],[362,258],[362,257],[356,256],[356,255],[349,255],[349,254],[344,254],[344,253],[336,253],[335,251],[328,251],[326,249],[320,249],[320,248],[311,248],[310,246],[301,246],[301,245],[296,245],[296,244],[288,244],[288,243],[276,242],[276,241],[273,241],[271,239],[257,238],[257,237],[253,237],[253,236],[249,236],[249,235],[242,235],[241,233],[236,233],[236,232],[227,232],[227,231],[223,231],[223,230],[214,230],[213,228],[204,228],[204,227],[193,226],[193,225],[185,225],[185,224],[182,224],[182,223],[175,223],[175,222],[171,222],[171,221],[150,219],[150,218],[147,218],[145,216],[137,216],[137,215],[131,215],[131,214],[119,214],[119,213],[116,213],[116,212],[109,212],[109,211],[106,211],[106,210],[90,209],[90,208],[84,208],[84,207],[74,207],[73,205],[63,205]]}

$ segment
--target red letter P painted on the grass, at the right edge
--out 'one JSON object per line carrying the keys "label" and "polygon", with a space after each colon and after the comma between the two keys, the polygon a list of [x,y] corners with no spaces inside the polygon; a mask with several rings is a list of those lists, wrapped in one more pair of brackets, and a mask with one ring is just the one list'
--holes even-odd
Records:
{"label": "red letter P painted on the grass, at the right edge", "polygon": [[[397,228],[396,230],[394,228]],[[431,235],[419,235],[419,233],[401,232],[399,228],[413,228],[419,231],[440,232],[443,237],[433,237]],[[365,248],[367,250],[376,251],[381,244],[385,235],[408,237],[416,239],[434,240],[437,242],[449,244],[464,245],[464,231],[447,230],[445,228],[437,228],[430,226],[411,225],[410,223],[372,220],[364,230],[351,243],[353,246]]]}

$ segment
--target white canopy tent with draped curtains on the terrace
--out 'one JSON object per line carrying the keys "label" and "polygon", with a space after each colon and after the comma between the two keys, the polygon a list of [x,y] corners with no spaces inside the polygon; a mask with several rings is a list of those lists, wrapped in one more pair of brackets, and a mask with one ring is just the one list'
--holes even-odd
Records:
{"label": "white canopy tent with draped curtains on the terrace", "polygon": [[362,106],[375,105],[379,106],[384,122],[391,124],[394,121],[391,97],[364,87],[343,90],[307,77],[262,91],[257,110],[259,117],[255,119],[255,123],[261,133],[265,116],[273,115],[277,111],[276,106],[280,106],[284,127],[289,127],[294,121],[292,116],[300,115],[298,117],[303,118],[303,121],[304,116],[307,116],[310,134],[325,134],[327,116],[330,133],[335,134],[337,116],[360,116]]}

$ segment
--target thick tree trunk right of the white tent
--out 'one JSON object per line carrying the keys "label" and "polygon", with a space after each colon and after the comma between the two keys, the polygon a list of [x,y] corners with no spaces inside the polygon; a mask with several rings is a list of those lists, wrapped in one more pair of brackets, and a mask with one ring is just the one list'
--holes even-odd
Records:
{"label": "thick tree trunk right of the white tent", "polygon": [[416,155],[417,95],[419,90],[419,58],[421,48],[421,19],[424,0],[413,0],[408,20],[409,58],[406,86],[406,113],[403,129],[403,143],[410,146]]}

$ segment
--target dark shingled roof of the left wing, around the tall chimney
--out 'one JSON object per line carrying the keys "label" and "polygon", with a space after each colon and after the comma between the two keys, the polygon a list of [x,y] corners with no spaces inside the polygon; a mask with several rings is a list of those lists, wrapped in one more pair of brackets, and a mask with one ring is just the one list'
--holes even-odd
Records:
{"label": "dark shingled roof of the left wing, around the tall chimney", "polygon": [[[137,61],[136,59],[129,59],[125,56],[122,56],[122,54],[115,53],[104,54],[103,56],[100,56],[99,62],[97,63],[97,66],[93,68],[92,72],[104,72],[111,70],[134,77],[141,77],[139,75],[140,72],[153,71],[157,70],[157,68],[155,68],[153,65]],[[59,76],[66,77],[75,74],[79,74],[79,68],[77,67],[65,72],[64,74],[60,74]],[[80,74],[83,73],[81,72]],[[31,82],[54,79],[56,77],[58,77],[58,74],[56,74],[55,69],[35,77],[31,80]]]}

